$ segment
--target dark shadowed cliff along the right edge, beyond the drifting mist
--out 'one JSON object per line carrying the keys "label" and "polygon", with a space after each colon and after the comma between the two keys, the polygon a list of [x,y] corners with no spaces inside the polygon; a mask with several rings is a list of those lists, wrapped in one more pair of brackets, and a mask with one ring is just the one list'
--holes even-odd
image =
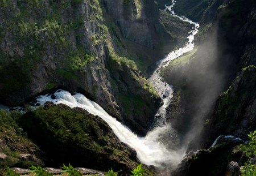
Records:
{"label": "dark shadowed cliff along the right edge, beyond the drifting mist", "polygon": [[[232,84],[218,97],[214,111],[209,115],[211,127],[206,128],[211,139],[220,134],[246,138],[255,128],[252,123],[255,117],[255,5],[253,1],[233,1],[218,12],[216,28],[222,46],[218,57],[228,72],[226,84]],[[224,127],[226,123],[229,127]]]}

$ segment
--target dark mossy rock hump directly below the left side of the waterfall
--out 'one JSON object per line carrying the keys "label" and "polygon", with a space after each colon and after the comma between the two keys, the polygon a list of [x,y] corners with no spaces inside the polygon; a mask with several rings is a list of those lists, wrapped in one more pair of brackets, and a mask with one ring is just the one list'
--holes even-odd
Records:
{"label": "dark mossy rock hump directly below the left side of the waterfall", "polygon": [[22,115],[19,124],[46,152],[46,166],[58,168],[70,163],[127,174],[138,165],[136,152],[121,143],[105,121],[86,110],[47,102],[44,108]]}

